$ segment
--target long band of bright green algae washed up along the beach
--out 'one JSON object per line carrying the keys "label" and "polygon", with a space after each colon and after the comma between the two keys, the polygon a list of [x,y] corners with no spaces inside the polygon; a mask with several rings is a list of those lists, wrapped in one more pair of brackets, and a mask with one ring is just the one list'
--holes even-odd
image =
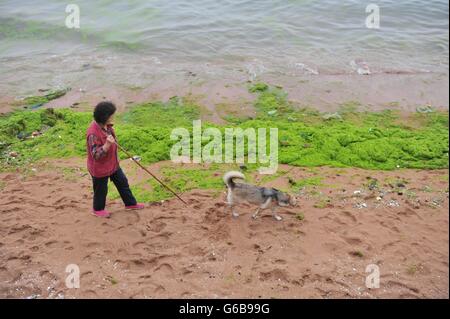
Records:
{"label": "long band of bright green algae washed up along the beach", "polygon": [[[257,94],[256,118],[222,125],[203,122],[203,129],[215,127],[224,136],[226,127],[278,128],[281,164],[382,170],[448,168],[447,112],[414,113],[404,118],[395,111],[357,112],[353,107],[357,103],[351,102],[340,111],[341,119],[325,120],[318,111],[296,107],[279,88],[258,85],[250,90]],[[268,115],[272,110],[276,113]],[[175,143],[170,139],[172,129],[185,127],[192,134],[192,121],[200,113],[201,108],[194,102],[178,97],[167,103],[135,105],[117,116],[118,140],[141,156],[144,164],[168,160]],[[10,151],[19,156],[8,165],[45,157],[85,156],[85,132],[91,121],[92,113],[71,109],[3,115],[0,160],[5,163]],[[43,134],[31,138],[31,133],[38,130]]]}

